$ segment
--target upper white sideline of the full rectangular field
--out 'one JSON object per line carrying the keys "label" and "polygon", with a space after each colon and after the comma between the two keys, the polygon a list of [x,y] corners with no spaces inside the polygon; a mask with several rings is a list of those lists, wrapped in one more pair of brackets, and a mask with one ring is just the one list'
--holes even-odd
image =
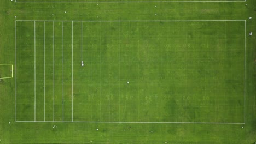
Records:
{"label": "upper white sideline of the full rectangular field", "polygon": [[[16,20],[16,21],[34,21],[34,20]],[[37,21],[51,21],[51,20],[37,20]],[[82,22],[200,22],[200,21],[245,21],[245,20],[155,20],[155,21],[136,21],[136,20],[131,20],[131,21],[118,21],[118,20],[113,20],[113,21],[82,21]],[[63,22],[63,21],[56,21],[56,22]],[[71,22],[71,21],[66,21],[66,22]],[[81,22],[81,21],[76,21],[73,20],[73,22]]]}

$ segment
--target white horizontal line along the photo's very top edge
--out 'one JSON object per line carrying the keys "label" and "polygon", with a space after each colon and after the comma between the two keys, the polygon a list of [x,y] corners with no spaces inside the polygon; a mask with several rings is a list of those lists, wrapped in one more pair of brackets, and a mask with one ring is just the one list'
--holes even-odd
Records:
{"label": "white horizontal line along the photo's very top edge", "polygon": [[158,1],[154,1],[154,2],[143,2],[143,1],[138,1],[138,2],[132,2],[132,1],[130,1],[130,2],[114,2],[114,1],[110,1],[110,2],[102,2],[102,1],[98,1],[98,2],[54,2],[54,1],[52,1],[52,2],[22,2],[22,1],[20,1],[20,2],[17,2],[17,1],[15,1],[16,3],[199,3],[199,2],[246,2],[246,0],[238,0],[238,1],[167,1],[167,2],[165,2],[165,1],[160,1],[160,2],[158,2]]}

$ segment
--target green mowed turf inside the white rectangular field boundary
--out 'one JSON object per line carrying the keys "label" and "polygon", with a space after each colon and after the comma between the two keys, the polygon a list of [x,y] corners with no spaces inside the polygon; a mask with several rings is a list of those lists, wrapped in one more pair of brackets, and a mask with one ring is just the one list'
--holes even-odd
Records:
{"label": "green mowed turf inside the white rectangular field boundary", "polygon": [[18,21],[16,29],[17,121],[245,121],[245,21]]}

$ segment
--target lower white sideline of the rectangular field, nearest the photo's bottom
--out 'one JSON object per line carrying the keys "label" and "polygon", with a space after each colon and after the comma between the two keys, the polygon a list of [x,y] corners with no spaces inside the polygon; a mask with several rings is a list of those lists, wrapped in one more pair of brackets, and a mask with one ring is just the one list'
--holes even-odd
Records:
{"label": "lower white sideline of the rectangular field, nearest the photo's bottom", "polygon": [[[34,122],[34,121],[17,121],[17,122]],[[38,123],[53,121],[36,121]],[[245,123],[207,123],[207,122],[81,122],[81,121],[55,121],[56,123],[183,123],[183,124],[245,124]]]}

